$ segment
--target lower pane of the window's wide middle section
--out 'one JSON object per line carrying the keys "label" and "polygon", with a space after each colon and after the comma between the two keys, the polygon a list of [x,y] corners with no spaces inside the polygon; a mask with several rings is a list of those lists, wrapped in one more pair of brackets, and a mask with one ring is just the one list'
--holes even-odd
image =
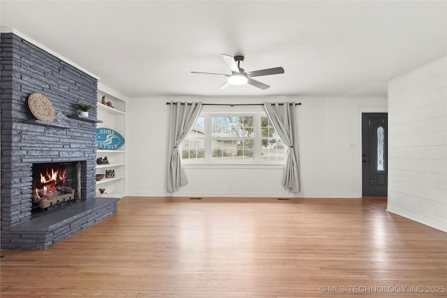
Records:
{"label": "lower pane of the window's wide middle section", "polygon": [[254,140],[212,140],[212,159],[252,160]]}

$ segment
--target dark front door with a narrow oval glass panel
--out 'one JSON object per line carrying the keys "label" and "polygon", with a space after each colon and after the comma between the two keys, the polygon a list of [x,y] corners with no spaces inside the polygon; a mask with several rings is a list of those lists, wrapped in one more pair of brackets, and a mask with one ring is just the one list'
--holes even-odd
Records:
{"label": "dark front door with a narrow oval glass panel", "polygon": [[362,113],[362,195],[386,197],[388,114]]}

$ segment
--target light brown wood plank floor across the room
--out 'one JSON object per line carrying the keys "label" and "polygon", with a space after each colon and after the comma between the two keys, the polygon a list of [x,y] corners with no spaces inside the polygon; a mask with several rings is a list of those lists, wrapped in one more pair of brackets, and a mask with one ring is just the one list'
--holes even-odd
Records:
{"label": "light brown wood plank floor across the room", "polygon": [[1,254],[1,297],[447,292],[447,233],[388,213],[383,198],[127,197],[46,251]]}

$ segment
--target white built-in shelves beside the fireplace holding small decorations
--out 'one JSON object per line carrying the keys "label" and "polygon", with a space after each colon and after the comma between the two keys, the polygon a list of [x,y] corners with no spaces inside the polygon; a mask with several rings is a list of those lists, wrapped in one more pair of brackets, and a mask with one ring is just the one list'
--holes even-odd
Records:
{"label": "white built-in shelves beside the fireplace holding small decorations", "polygon": [[[112,103],[112,107],[101,103],[105,100]],[[97,128],[110,128],[117,131],[126,139],[126,100],[116,91],[98,84],[98,119],[103,121]],[[99,188],[105,188],[110,198],[122,198],[126,195],[126,143],[117,150],[96,149],[96,158],[108,157],[108,164],[96,165],[96,174],[105,174],[106,170],[115,170],[115,177],[103,178],[96,181],[96,195]]]}

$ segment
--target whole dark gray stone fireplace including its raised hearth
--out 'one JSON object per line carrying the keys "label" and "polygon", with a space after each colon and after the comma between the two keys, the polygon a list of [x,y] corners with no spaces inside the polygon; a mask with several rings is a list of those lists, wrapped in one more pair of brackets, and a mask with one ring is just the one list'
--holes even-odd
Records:
{"label": "whole dark gray stone fireplace including its raised hearth", "polygon": [[[97,79],[24,36],[13,32],[0,38],[1,248],[49,248],[117,212],[117,199],[96,198],[96,122],[70,117],[82,103],[94,107],[89,114],[96,119]],[[27,105],[34,92],[67,117],[59,124],[36,121]],[[65,173],[57,179],[65,175],[65,181],[36,181],[42,171],[51,176],[59,167]],[[51,191],[45,193],[44,186]],[[78,203],[36,218],[49,209],[36,201],[50,193],[70,198],[66,188],[73,189],[70,201]],[[50,207],[57,207],[57,200]]]}

